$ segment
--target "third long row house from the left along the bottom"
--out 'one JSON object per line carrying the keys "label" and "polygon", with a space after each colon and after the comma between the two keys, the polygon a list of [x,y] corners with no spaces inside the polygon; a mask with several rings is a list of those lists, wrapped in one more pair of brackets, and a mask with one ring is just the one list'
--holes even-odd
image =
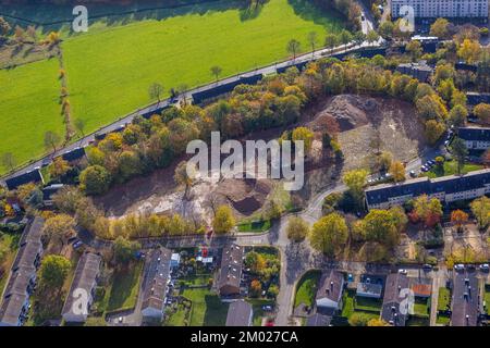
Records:
{"label": "third long row house from the left along the bottom", "polygon": [[147,264],[142,314],[144,321],[161,321],[170,282],[170,259],[172,251],[160,248],[151,254]]}

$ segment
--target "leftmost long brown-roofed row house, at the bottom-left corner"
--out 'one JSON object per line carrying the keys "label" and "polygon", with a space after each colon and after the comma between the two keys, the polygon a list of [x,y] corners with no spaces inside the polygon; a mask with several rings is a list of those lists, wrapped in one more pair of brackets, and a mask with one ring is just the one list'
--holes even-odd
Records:
{"label": "leftmost long brown-roofed row house, at the bottom-left corner", "polygon": [[24,228],[9,282],[2,294],[0,326],[22,326],[27,319],[29,297],[36,286],[36,272],[44,251],[44,223],[41,217],[35,217]]}

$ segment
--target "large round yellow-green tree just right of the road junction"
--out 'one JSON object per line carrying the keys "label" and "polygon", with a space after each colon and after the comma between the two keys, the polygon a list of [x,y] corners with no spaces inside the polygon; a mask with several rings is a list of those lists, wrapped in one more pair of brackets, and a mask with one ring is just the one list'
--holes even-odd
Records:
{"label": "large round yellow-green tree just right of the road junction", "polygon": [[342,250],[347,238],[347,224],[345,219],[338,213],[328,214],[317,221],[309,235],[311,247],[330,257]]}

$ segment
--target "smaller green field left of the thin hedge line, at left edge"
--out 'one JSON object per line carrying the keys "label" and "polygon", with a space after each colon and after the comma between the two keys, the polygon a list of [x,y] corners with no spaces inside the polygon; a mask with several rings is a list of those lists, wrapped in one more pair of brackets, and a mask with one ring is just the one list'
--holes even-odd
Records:
{"label": "smaller green field left of the thin hedge line, at left edge", "polygon": [[57,59],[0,70],[0,154],[12,152],[17,164],[45,153],[47,130],[64,136],[58,71]]}

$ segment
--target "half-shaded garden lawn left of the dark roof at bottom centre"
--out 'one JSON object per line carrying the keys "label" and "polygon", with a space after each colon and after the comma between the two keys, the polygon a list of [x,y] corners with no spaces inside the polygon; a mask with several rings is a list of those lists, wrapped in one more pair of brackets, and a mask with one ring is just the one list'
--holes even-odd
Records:
{"label": "half-shaded garden lawn left of the dark roof at bottom centre", "polygon": [[182,294],[193,302],[189,326],[224,326],[226,323],[228,303],[208,288],[185,289]]}

